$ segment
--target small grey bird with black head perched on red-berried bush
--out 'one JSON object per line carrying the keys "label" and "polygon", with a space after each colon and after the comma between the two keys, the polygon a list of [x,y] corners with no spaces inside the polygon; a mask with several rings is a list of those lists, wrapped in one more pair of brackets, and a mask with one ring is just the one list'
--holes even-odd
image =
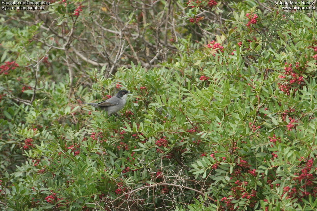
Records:
{"label": "small grey bird with black head perched on red-berried bush", "polygon": [[104,109],[105,111],[108,111],[108,115],[112,115],[124,107],[129,93],[131,92],[128,92],[127,90],[120,90],[115,96],[109,98],[108,100],[99,103],[81,102],[81,104],[92,105],[95,108]]}

